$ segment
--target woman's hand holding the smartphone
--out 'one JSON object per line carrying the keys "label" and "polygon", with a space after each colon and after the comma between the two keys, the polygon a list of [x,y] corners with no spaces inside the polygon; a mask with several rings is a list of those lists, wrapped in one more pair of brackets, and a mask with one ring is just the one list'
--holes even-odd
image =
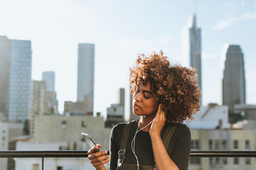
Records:
{"label": "woman's hand holding the smartphone", "polygon": [[92,147],[88,153],[88,159],[90,159],[90,163],[95,169],[105,169],[103,164],[106,164],[110,161],[110,156],[106,155],[107,151],[100,151],[98,149],[101,147],[100,144],[97,144],[95,147]]}

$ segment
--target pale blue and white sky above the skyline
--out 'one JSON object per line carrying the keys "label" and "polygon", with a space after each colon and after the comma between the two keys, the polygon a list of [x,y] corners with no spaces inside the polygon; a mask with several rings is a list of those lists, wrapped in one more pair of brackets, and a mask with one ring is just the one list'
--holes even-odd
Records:
{"label": "pale blue and white sky above the skyline", "polygon": [[55,72],[60,113],[76,101],[78,43],[95,44],[95,112],[105,115],[126,89],[138,53],[164,51],[181,63],[181,32],[196,13],[201,28],[203,105],[222,103],[220,52],[240,45],[245,61],[246,99],[256,104],[256,1],[169,0],[0,0],[0,35],[31,40],[32,79]]}

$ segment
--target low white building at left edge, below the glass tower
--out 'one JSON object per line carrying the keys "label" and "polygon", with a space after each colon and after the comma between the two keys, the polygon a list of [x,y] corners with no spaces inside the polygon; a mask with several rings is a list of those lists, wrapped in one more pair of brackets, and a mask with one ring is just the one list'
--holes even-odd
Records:
{"label": "low white building at left edge, below the glass tower", "polygon": [[[0,150],[15,149],[15,143],[11,142],[11,138],[19,137],[23,134],[22,123],[6,123],[0,121]],[[8,170],[14,166],[13,159],[1,158],[0,169]]]}

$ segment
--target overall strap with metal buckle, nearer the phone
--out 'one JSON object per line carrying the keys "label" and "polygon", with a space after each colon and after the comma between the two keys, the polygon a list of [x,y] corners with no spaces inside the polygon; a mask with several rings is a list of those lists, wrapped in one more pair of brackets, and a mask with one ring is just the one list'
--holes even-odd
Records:
{"label": "overall strap with metal buckle, nearer the phone", "polygon": [[122,141],[121,141],[121,146],[120,149],[118,151],[118,160],[117,160],[117,166],[122,166],[122,162],[125,158],[125,149],[127,146],[127,140],[128,140],[128,136],[129,136],[129,130],[132,127],[132,123],[134,123],[133,121],[129,121],[128,123],[124,124],[124,130],[122,133]]}

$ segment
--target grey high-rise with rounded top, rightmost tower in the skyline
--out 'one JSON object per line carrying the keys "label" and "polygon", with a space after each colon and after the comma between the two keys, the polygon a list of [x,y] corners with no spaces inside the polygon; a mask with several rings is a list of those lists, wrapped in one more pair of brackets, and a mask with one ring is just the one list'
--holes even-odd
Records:
{"label": "grey high-rise with rounded top, rightmost tower in the skyline", "polygon": [[245,64],[239,45],[224,45],[223,60],[223,105],[234,113],[235,104],[245,101]]}

